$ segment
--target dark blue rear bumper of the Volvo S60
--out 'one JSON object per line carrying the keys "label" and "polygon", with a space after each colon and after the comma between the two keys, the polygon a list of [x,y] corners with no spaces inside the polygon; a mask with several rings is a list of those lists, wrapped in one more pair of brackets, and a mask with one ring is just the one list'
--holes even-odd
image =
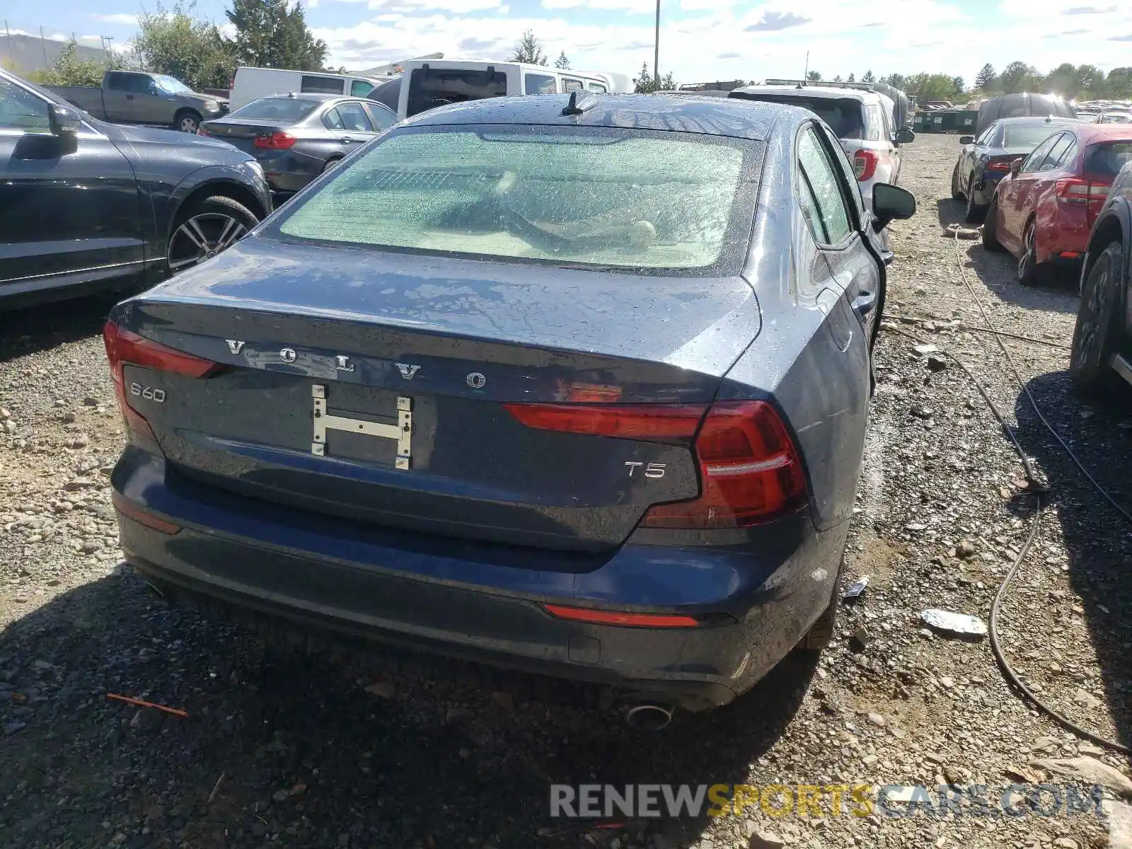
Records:
{"label": "dark blue rear bumper of the Volvo S60", "polygon": [[[743,550],[626,544],[586,571],[543,571],[538,551],[530,567],[492,563],[461,542],[438,550],[419,535],[166,480],[164,466],[131,447],[112,475],[120,496],[182,526],[166,534],[119,514],[122,550],[144,574],[319,629],[689,710],[731,701],[797,644],[833,593],[847,531],[817,532],[799,513]],[[722,624],[592,625],[557,619],[547,602],[713,614]]]}

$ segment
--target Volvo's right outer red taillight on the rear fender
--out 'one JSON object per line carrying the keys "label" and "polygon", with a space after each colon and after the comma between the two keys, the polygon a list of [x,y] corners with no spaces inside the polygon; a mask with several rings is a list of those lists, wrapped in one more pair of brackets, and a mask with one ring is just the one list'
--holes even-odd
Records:
{"label": "Volvo's right outer red taillight on the rear fender", "polygon": [[745,528],[797,507],[806,496],[794,441],[764,401],[712,404],[694,449],[700,497],[651,507],[643,528]]}

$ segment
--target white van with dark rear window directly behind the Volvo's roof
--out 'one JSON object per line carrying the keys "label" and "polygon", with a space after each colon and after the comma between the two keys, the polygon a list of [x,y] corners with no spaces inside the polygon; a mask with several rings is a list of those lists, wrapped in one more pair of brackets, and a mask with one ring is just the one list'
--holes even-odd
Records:
{"label": "white van with dark rear window directly behind the Volvo's roof", "polygon": [[[560,70],[521,62],[443,59],[413,60],[403,62],[402,67],[404,71],[396,110],[398,119],[447,103],[483,97],[577,91],[606,94],[624,92],[629,85],[629,78],[623,74]],[[393,87],[392,83],[389,87]]]}

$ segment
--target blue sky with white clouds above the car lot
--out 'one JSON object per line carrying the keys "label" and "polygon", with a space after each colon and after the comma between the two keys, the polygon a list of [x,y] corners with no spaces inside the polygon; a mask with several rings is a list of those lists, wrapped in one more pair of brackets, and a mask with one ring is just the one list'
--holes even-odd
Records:
{"label": "blue sky with white clouds above the car lot", "polygon": [[[652,65],[654,0],[298,0],[331,62],[362,69],[436,51],[506,58],[526,28],[574,68],[635,74]],[[1080,6],[1071,3],[1080,2]],[[1096,2],[1096,6],[1086,3]],[[12,32],[127,43],[135,0],[38,0],[6,12]],[[197,12],[223,23],[224,0]],[[11,7],[9,7],[11,9]],[[678,82],[899,71],[960,75],[1021,60],[1132,66],[1129,0],[662,0],[660,68]]]}

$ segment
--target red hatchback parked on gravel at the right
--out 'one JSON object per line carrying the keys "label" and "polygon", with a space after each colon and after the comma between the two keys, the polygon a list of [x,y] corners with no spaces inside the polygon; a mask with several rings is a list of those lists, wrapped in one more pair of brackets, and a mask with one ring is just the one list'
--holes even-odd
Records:
{"label": "red hatchback parked on gravel at the right", "polygon": [[1058,266],[1079,267],[1108,188],[1130,160],[1132,126],[1058,129],[1011,163],[987,208],[984,247],[1018,257],[1023,286],[1047,280]]}

